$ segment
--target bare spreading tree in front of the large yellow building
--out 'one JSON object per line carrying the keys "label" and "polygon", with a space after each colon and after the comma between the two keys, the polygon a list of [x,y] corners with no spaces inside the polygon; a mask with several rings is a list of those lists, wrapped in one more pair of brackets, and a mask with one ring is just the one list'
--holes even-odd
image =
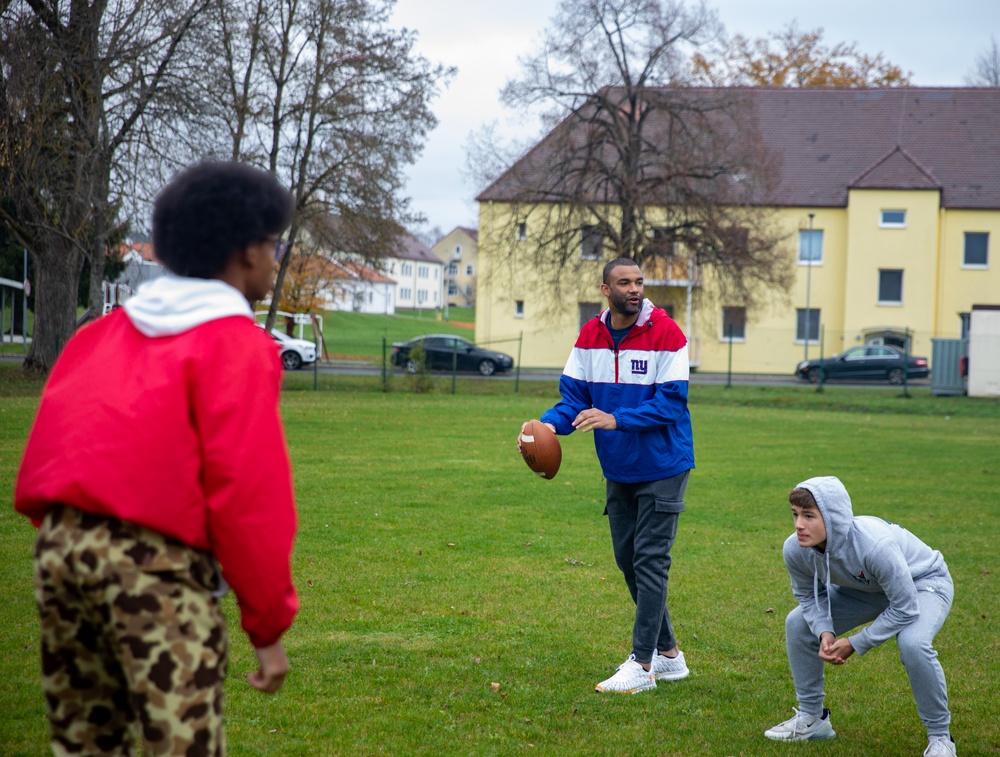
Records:
{"label": "bare spreading tree in front of the large yellow building", "polygon": [[734,304],[789,288],[782,237],[757,207],[768,156],[739,90],[687,86],[690,50],[718,31],[704,5],[561,2],[502,92],[508,106],[545,106],[556,125],[479,197],[510,208],[492,231],[501,255],[523,255],[530,227],[531,265],[555,292],[575,286],[582,261],[619,256],[649,278],[711,269]]}

